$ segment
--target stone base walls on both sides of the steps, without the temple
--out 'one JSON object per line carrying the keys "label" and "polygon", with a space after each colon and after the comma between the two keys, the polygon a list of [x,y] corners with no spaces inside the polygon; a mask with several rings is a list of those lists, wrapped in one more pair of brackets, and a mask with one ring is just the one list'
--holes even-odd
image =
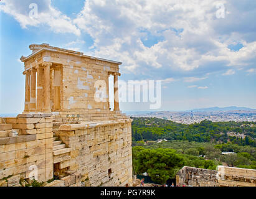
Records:
{"label": "stone base walls on both sides of the steps, without the temple", "polygon": [[38,182],[54,175],[60,179],[47,186],[132,185],[131,119],[61,124],[54,137],[54,118],[19,114],[1,119],[0,186],[20,186],[19,180],[33,174]]}

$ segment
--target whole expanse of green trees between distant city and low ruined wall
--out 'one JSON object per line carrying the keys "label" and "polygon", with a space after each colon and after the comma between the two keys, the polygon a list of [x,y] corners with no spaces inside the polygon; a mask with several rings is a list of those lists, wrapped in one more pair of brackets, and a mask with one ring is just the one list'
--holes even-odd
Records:
{"label": "whole expanse of green trees between distant city and low ruined wall", "polygon": [[186,125],[166,119],[133,118],[133,172],[147,172],[154,182],[166,183],[185,165],[256,169],[255,124],[202,121]]}

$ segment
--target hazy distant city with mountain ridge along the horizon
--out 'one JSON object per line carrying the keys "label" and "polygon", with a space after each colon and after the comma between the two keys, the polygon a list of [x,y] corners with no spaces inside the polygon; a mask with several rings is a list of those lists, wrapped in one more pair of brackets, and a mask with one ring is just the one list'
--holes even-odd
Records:
{"label": "hazy distant city with mountain ridge along the horizon", "polygon": [[140,111],[131,112],[126,111],[133,117],[148,117],[148,118],[161,118],[169,119],[176,123],[182,124],[194,124],[200,123],[207,119],[213,122],[224,122],[224,121],[249,121],[256,122],[256,109],[250,108],[239,108],[235,106],[225,108],[204,108],[204,109],[193,109],[191,111]]}

